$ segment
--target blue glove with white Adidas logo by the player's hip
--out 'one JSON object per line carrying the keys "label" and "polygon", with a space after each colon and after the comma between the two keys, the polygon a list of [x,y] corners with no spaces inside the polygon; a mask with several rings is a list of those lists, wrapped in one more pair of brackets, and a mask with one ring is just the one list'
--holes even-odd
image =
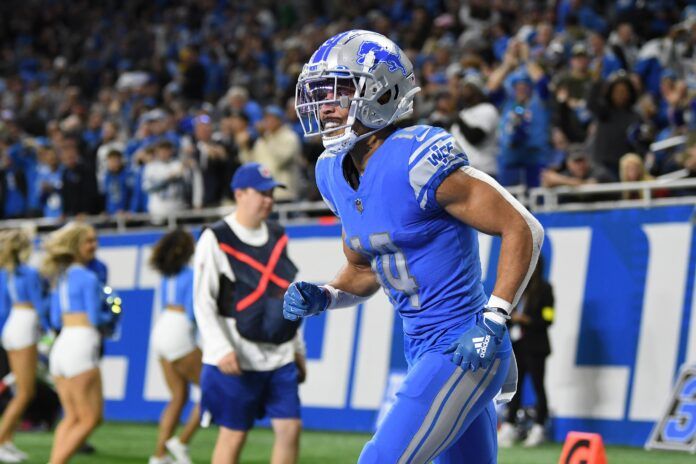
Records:
{"label": "blue glove with white Adidas logo by the player's hip", "polygon": [[503,342],[507,326],[486,317],[487,312],[494,312],[500,318],[505,319],[502,310],[489,310],[486,308],[483,317],[478,318],[476,325],[464,332],[456,342],[452,343],[445,354],[454,353],[452,362],[461,366],[464,370],[475,371],[479,367],[488,369],[495,359],[495,355]]}

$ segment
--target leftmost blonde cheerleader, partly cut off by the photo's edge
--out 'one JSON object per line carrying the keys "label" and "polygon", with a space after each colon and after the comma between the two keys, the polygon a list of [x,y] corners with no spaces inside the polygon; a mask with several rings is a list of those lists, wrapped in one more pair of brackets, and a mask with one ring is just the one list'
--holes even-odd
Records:
{"label": "leftmost blonde cheerleader, partly cut off by the photo's edge", "polygon": [[0,462],[22,462],[27,454],[12,443],[17,424],[36,392],[36,365],[40,321],[47,319],[43,281],[26,264],[32,243],[21,230],[0,236],[0,299],[3,307],[2,346],[7,351],[15,392],[0,420]]}

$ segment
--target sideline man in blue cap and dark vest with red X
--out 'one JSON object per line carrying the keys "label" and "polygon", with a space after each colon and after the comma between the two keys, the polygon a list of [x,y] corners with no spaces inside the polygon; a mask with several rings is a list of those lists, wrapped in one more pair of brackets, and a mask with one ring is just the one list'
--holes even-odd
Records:
{"label": "sideline man in blue cap and dark vest with red X", "polygon": [[237,209],[205,229],[194,258],[194,312],[203,341],[201,411],[220,426],[213,464],[239,462],[254,420],[268,416],[273,464],[297,462],[298,383],[304,343],[283,318],[283,295],[297,273],[284,229],[268,221],[273,190],[284,187],[258,163],[231,184]]}

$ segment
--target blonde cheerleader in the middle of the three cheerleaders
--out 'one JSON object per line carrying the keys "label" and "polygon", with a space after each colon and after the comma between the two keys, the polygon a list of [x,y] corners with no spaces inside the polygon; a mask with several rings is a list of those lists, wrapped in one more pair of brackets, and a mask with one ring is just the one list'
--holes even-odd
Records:
{"label": "blonde cheerleader in the middle of the three cheerleaders", "polygon": [[85,267],[95,255],[97,235],[83,223],[68,224],[44,244],[42,273],[52,282],[51,316],[62,330],[49,359],[63,419],[56,427],[51,464],[62,464],[75,454],[102,420],[104,398],[99,371],[99,327],[112,313],[104,311],[102,286]]}

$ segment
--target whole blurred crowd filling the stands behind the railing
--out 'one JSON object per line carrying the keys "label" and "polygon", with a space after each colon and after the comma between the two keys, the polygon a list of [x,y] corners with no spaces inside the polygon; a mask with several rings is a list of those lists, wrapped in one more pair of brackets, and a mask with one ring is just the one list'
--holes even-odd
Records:
{"label": "whole blurred crowd filling the stands behind the railing", "polygon": [[279,200],[319,199],[295,82],[355,28],[414,63],[408,123],[447,128],[504,185],[696,176],[693,1],[8,0],[0,218],[161,219],[230,201],[247,161]]}

